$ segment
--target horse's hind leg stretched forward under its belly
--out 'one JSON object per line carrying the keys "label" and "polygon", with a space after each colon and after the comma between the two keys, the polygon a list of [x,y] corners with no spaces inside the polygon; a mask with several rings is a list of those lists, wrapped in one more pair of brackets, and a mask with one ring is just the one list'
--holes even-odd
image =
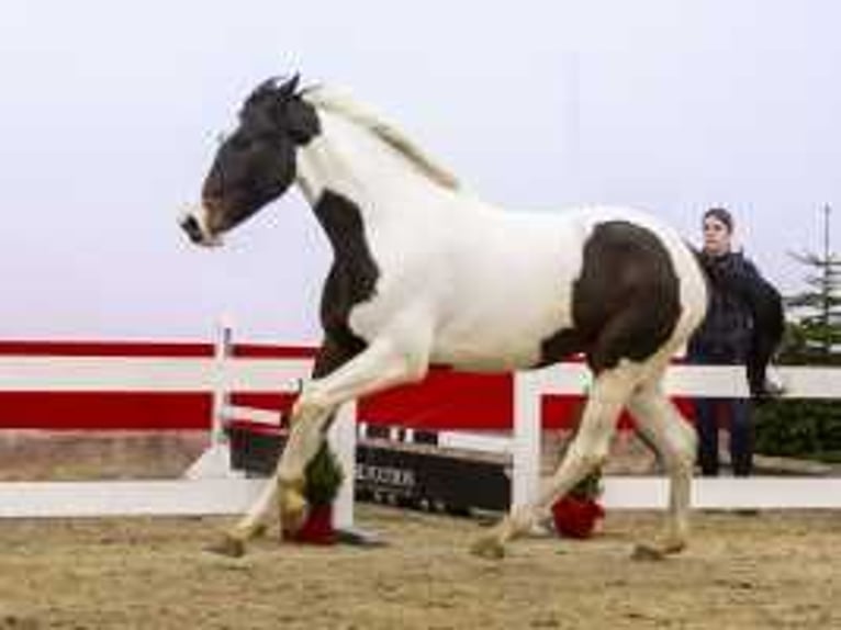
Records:
{"label": "horse's hind leg stretched forward under its belly", "polygon": [[619,413],[637,382],[638,370],[635,365],[605,370],[596,376],[575,438],[558,470],[541,488],[537,502],[512,510],[487,535],[476,540],[472,547],[475,554],[486,558],[504,555],[504,545],[508,540],[530,531],[559,497],[604,462]]}

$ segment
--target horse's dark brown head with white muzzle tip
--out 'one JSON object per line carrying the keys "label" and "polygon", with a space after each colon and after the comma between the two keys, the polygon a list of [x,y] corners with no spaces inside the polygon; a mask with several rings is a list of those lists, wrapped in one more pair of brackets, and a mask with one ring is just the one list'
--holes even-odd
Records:
{"label": "horse's dark brown head with white muzzle tip", "polygon": [[237,128],[226,137],[202,187],[202,204],[181,220],[198,245],[220,236],[278,199],[295,179],[298,147],[319,131],[315,109],[298,92],[299,77],[270,79],[246,99]]}

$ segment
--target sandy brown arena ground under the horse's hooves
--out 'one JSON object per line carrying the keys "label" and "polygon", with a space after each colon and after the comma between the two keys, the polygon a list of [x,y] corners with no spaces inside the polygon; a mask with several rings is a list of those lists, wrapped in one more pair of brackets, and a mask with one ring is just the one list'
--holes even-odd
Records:
{"label": "sandy brown arena ground under the horse's hooves", "polygon": [[698,514],[693,547],[629,558],[653,514],[587,541],[467,552],[475,520],[362,505],[383,548],[202,551],[224,520],[0,522],[0,629],[841,628],[841,514]]}

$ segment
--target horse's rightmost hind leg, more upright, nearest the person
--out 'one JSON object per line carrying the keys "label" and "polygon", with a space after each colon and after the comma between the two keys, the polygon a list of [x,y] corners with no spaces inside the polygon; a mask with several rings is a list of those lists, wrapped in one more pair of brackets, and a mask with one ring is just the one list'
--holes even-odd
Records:
{"label": "horse's rightmost hind leg, more upright, nearest the person", "polygon": [[674,403],[660,389],[660,379],[646,384],[628,403],[639,431],[658,450],[669,472],[669,513],[662,539],[640,544],[638,558],[677,553],[687,544],[692,471],[697,438]]}

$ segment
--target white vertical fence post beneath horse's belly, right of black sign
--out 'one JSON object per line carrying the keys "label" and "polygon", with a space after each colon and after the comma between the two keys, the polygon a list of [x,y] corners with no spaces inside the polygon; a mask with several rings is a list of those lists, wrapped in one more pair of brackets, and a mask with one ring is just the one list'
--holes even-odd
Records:
{"label": "white vertical fence post beneath horse's belly, right of black sign", "polygon": [[540,488],[539,383],[532,372],[514,374],[512,508],[532,504]]}

